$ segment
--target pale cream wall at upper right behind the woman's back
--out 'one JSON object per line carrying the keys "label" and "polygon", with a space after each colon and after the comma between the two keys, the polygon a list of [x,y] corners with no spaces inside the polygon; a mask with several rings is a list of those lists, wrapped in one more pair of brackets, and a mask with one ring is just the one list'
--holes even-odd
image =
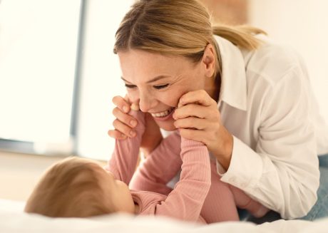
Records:
{"label": "pale cream wall at upper right behind the woman's back", "polygon": [[295,48],[307,63],[321,113],[328,122],[328,1],[249,0],[249,22]]}

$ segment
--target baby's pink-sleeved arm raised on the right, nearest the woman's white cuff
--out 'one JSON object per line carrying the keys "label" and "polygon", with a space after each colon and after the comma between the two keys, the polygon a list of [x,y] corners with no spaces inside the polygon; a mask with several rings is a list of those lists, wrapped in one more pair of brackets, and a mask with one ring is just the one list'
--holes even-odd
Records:
{"label": "baby's pink-sleeved arm raised on the right, nearest the woman's white cuff", "polygon": [[210,158],[203,143],[181,138],[180,181],[164,202],[157,204],[155,214],[197,221],[210,190]]}

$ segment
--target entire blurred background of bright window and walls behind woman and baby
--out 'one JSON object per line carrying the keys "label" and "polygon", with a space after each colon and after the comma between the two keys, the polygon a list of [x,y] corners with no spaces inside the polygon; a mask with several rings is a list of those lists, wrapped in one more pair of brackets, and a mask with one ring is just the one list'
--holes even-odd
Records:
{"label": "entire blurred background of bright window and walls behind woman and baby", "polygon": [[[328,1],[202,1],[213,22],[257,26],[297,50],[328,120]],[[64,156],[111,156],[111,98],[125,93],[112,48],[131,4],[0,1],[0,198],[26,200]]]}

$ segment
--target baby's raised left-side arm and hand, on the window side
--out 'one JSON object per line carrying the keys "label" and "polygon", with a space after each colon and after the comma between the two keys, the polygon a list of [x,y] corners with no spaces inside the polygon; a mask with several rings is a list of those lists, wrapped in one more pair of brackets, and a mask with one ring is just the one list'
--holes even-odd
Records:
{"label": "baby's raised left-side arm and hand, on the window side", "polygon": [[129,184],[138,162],[139,148],[143,132],[145,131],[145,115],[141,111],[130,110],[130,115],[138,120],[135,127],[137,135],[134,138],[116,140],[111,160],[106,170],[112,172],[116,179]]}

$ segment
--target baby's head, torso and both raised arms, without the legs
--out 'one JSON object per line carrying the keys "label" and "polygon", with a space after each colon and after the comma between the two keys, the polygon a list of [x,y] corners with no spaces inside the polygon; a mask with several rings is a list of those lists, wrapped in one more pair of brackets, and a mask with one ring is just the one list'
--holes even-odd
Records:
{"label": "baby's head, torso and both raised arms, without the legs", "polygon": [[181,140],[181,177],[170,194],[128,189],[145,130],[143,113],[132,111],[131,114],[138,119],[138,137],[116,140],[107,172],[89,160],[69,158],[58,162],[36,185],[25,211],[49,217],[128,212],[205,222],[200,211],[210,189],[210,159],[203,143]]}

